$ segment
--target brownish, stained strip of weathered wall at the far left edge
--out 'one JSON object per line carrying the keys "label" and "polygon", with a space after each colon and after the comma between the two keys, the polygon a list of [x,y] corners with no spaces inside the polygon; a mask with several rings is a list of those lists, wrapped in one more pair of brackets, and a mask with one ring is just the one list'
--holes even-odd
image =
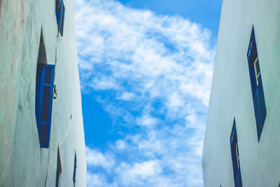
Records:
{"label": "brownish, stained strip of weathered wall at the far left edge", "polygon": [[15,134],[26,1],[0,1],[0,186],[7,182]]}

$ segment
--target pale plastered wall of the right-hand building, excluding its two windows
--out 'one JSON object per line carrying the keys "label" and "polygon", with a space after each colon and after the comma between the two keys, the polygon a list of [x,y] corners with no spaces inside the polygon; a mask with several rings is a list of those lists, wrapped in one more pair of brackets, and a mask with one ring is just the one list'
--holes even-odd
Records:
{"label": "pale plastered wall of the right-hand building, excluding its two windows", "polygon": [[[246,53],[254,26],[267,116],[258,142]],[[280,181],[280,1],[224,0],[204,138],[204,186],[235,186],[235,118],[243,186]]]}

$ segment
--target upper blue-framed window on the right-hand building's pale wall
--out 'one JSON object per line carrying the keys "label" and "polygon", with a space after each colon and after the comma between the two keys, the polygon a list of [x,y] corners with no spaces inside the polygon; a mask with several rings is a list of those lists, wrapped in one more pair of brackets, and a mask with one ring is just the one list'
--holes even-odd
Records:
{"label": "upper blue-framed window on the right-hand building's pale wall", "polygon": [[260,64],[258,60],[257,45],[255,43],[254,29],[252,29],[251,33],[247,59],[253,96],[253,106],[255,111],[255,123],[257,125],[258,141],[260,141],[260,135],[262,134],[262,127],[265,123],[267,111],[265,107],[265,95],[262,88],[262,76],[260,74]]}

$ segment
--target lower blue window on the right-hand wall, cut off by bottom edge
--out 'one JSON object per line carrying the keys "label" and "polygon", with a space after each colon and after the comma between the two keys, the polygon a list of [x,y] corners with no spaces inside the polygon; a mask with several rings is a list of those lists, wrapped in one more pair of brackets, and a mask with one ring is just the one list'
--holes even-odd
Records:
{"label": "lower blue window on the right-hand wall, cut off by bottom edge", "polygon": [[230,149],[232,153],[232,168],[233,175],[235,179],[235,187],[241,187],[241,170],[240,170],[240,160],[239,160],[239,148],[237,141],[237,130],[235,125],[235,119],[233,120],[232,133],[230,134]]}

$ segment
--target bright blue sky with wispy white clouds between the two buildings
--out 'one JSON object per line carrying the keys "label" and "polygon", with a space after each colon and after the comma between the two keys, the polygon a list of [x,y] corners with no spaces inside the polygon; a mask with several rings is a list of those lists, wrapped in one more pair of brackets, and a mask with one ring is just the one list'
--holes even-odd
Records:
{"label": "bright blue sky with wispy white clouds between the two buildings", "polygon": [[203,186],[221,0],[75,0],[87,186]]}

